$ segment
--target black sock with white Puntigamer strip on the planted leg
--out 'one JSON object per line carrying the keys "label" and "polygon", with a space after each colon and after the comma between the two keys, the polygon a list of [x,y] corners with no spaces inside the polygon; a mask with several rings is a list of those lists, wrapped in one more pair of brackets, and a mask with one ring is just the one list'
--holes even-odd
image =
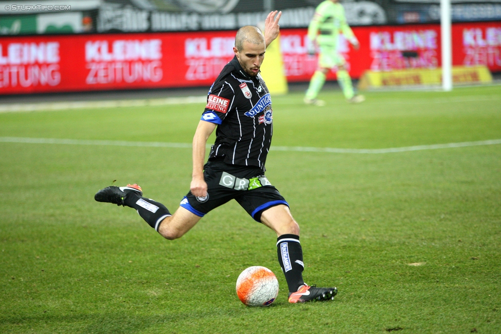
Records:
{"label": "black sock with white Puntigamer strip on the planted leg", "polygon": [[277,239],[278,262],[285,274],[289,292],[296,292],[303,282],[303,250],[299,235],[282,234]]}

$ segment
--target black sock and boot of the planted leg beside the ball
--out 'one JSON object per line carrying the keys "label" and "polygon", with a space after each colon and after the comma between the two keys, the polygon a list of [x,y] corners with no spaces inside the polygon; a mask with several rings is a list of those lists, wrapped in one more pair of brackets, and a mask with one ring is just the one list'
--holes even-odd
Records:
{"label": "black sock and boot of the planted leg beside the ball", "polygon": [[278,261],[289,288],[290,303],[310,301],[329,301],[334,299],[337,288],[317,288],[304,283],[303,250],[299,243],[299,235],[282,234],[277,241]]}

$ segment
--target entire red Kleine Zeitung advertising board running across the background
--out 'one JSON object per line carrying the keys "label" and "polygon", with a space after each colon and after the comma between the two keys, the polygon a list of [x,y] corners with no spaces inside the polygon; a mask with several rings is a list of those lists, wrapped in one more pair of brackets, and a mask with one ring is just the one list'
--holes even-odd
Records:
{"label": "entire red Kleine Zeitung advertising board running across the background", "polygon": [[[358,51],[339,42],[353,77],[440,66],[439,25],[353,30]],[[454,24],[452,36],[454,65],[501,71],[501,23]],[[234,31],[0,37],[0,94],[210,86],[233,57],[234,38]],[[306,42],[306,29],[281,32],[289,82],[310,80],[317,67]]]}

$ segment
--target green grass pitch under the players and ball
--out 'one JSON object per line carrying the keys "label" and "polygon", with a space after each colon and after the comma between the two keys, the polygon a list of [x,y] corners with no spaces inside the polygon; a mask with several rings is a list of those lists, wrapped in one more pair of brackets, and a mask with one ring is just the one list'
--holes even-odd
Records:
{"label": "green grass pitch under the players and ball", "polygon": [[[500,86],[320,97],[327,106],[273,97],[272,147],[501,139]],[[3,113],[0,136],[190,143],[203,107]],[[0,143],[0,333],[501,332],[501,145],[272,150],[266,167],[301,227],[304,279],[337,286],[332,302],[287,303],[276,235],[235,202],[176,241],[94,202],[118,180],[174,211],[188,148]],[[253,265],[278,277],[270,307],[236,296]]]}

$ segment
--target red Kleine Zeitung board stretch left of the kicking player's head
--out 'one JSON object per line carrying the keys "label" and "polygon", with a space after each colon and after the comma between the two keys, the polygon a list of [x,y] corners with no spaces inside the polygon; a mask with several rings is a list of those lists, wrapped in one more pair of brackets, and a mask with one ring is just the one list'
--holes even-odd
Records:
{"label": "red Kleine Zeitung board stretch left of the kicking player's head", "polygon": [[210,86],[235,32],[0,38],[0,93]]}

